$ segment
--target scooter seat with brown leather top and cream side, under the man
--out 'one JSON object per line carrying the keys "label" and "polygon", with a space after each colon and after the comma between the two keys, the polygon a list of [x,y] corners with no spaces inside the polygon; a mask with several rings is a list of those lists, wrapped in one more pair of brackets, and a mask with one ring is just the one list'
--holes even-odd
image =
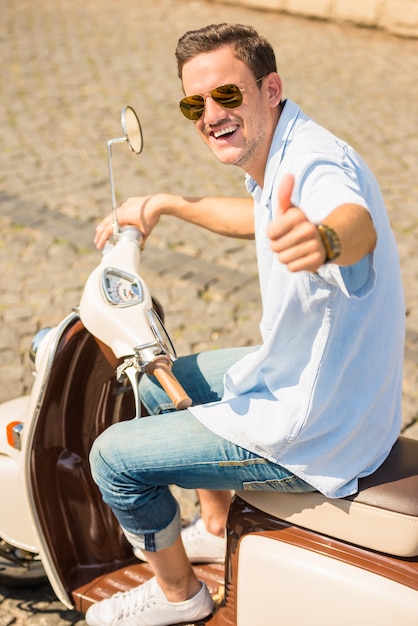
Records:
{"label": "scooter seat with brown leather top and cream side, under the man", "polygon": [[258,509],[309,530],[396,556],[418,555],[418,440],[400,437],[354,496],[241,491]]}

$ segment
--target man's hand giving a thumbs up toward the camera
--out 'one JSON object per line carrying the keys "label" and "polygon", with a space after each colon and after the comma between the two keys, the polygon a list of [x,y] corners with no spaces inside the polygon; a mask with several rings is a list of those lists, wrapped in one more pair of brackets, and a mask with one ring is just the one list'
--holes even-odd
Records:
{"label": "man's hand giving a thumbs up toward the camera", "polygon": [[270,247],[290,272],[315,272],[326,251],[316,225],[292,202],[295,179],[286,174],[279,189],[277,213],[267,228]]}

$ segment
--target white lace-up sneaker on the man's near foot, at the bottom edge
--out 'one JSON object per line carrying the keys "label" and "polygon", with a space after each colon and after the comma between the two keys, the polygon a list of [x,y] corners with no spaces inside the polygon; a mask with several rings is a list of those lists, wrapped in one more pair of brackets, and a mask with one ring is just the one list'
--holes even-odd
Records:
{"label": "white lace-up sneaker on the man's near foot, at the bottom edge", "polygon": [[213,612],[213,600],[202,582],[200,591],[184,602],[169,602],[155,578],[130,591],[92,604],[89,626],[184,626],[200,624]]}

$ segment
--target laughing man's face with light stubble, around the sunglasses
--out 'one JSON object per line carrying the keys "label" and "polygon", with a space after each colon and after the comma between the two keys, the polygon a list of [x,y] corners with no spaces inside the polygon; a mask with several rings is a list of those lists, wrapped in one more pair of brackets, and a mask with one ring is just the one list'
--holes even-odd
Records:
{"label": "laughing man's face with light stubble, around the sunglasses", "polygon": [[[259,184],[262,184],[281,96],[280,84],[280,94],[271,97],[269,77],[256,83],[261,77],[254,76],[234,56],[231,46],[197,55],[183,66],[182,72],[185,95],[200,94],[205,98],[202,117],[194,122],[203,141],[219,161],[242,167]],[[280,83],[274,75],[276,79]],[[243,103],[236,109],[225,108],[208,95],[215,87],[230,83],[244,93]]]}

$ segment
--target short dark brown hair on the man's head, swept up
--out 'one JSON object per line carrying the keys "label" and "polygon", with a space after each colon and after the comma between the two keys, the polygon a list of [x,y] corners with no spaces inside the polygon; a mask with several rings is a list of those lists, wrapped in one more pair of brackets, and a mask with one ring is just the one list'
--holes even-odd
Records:
{"label": "short dark brown hair on the man's head, swept up", "polygon": [[252,26],[211,24],[185,33],[176,48],[177,70],[181,79],[183,66],[198,54],[232,45],[235,56],[248,65],[256,78],[277,72],[272,45]]}

